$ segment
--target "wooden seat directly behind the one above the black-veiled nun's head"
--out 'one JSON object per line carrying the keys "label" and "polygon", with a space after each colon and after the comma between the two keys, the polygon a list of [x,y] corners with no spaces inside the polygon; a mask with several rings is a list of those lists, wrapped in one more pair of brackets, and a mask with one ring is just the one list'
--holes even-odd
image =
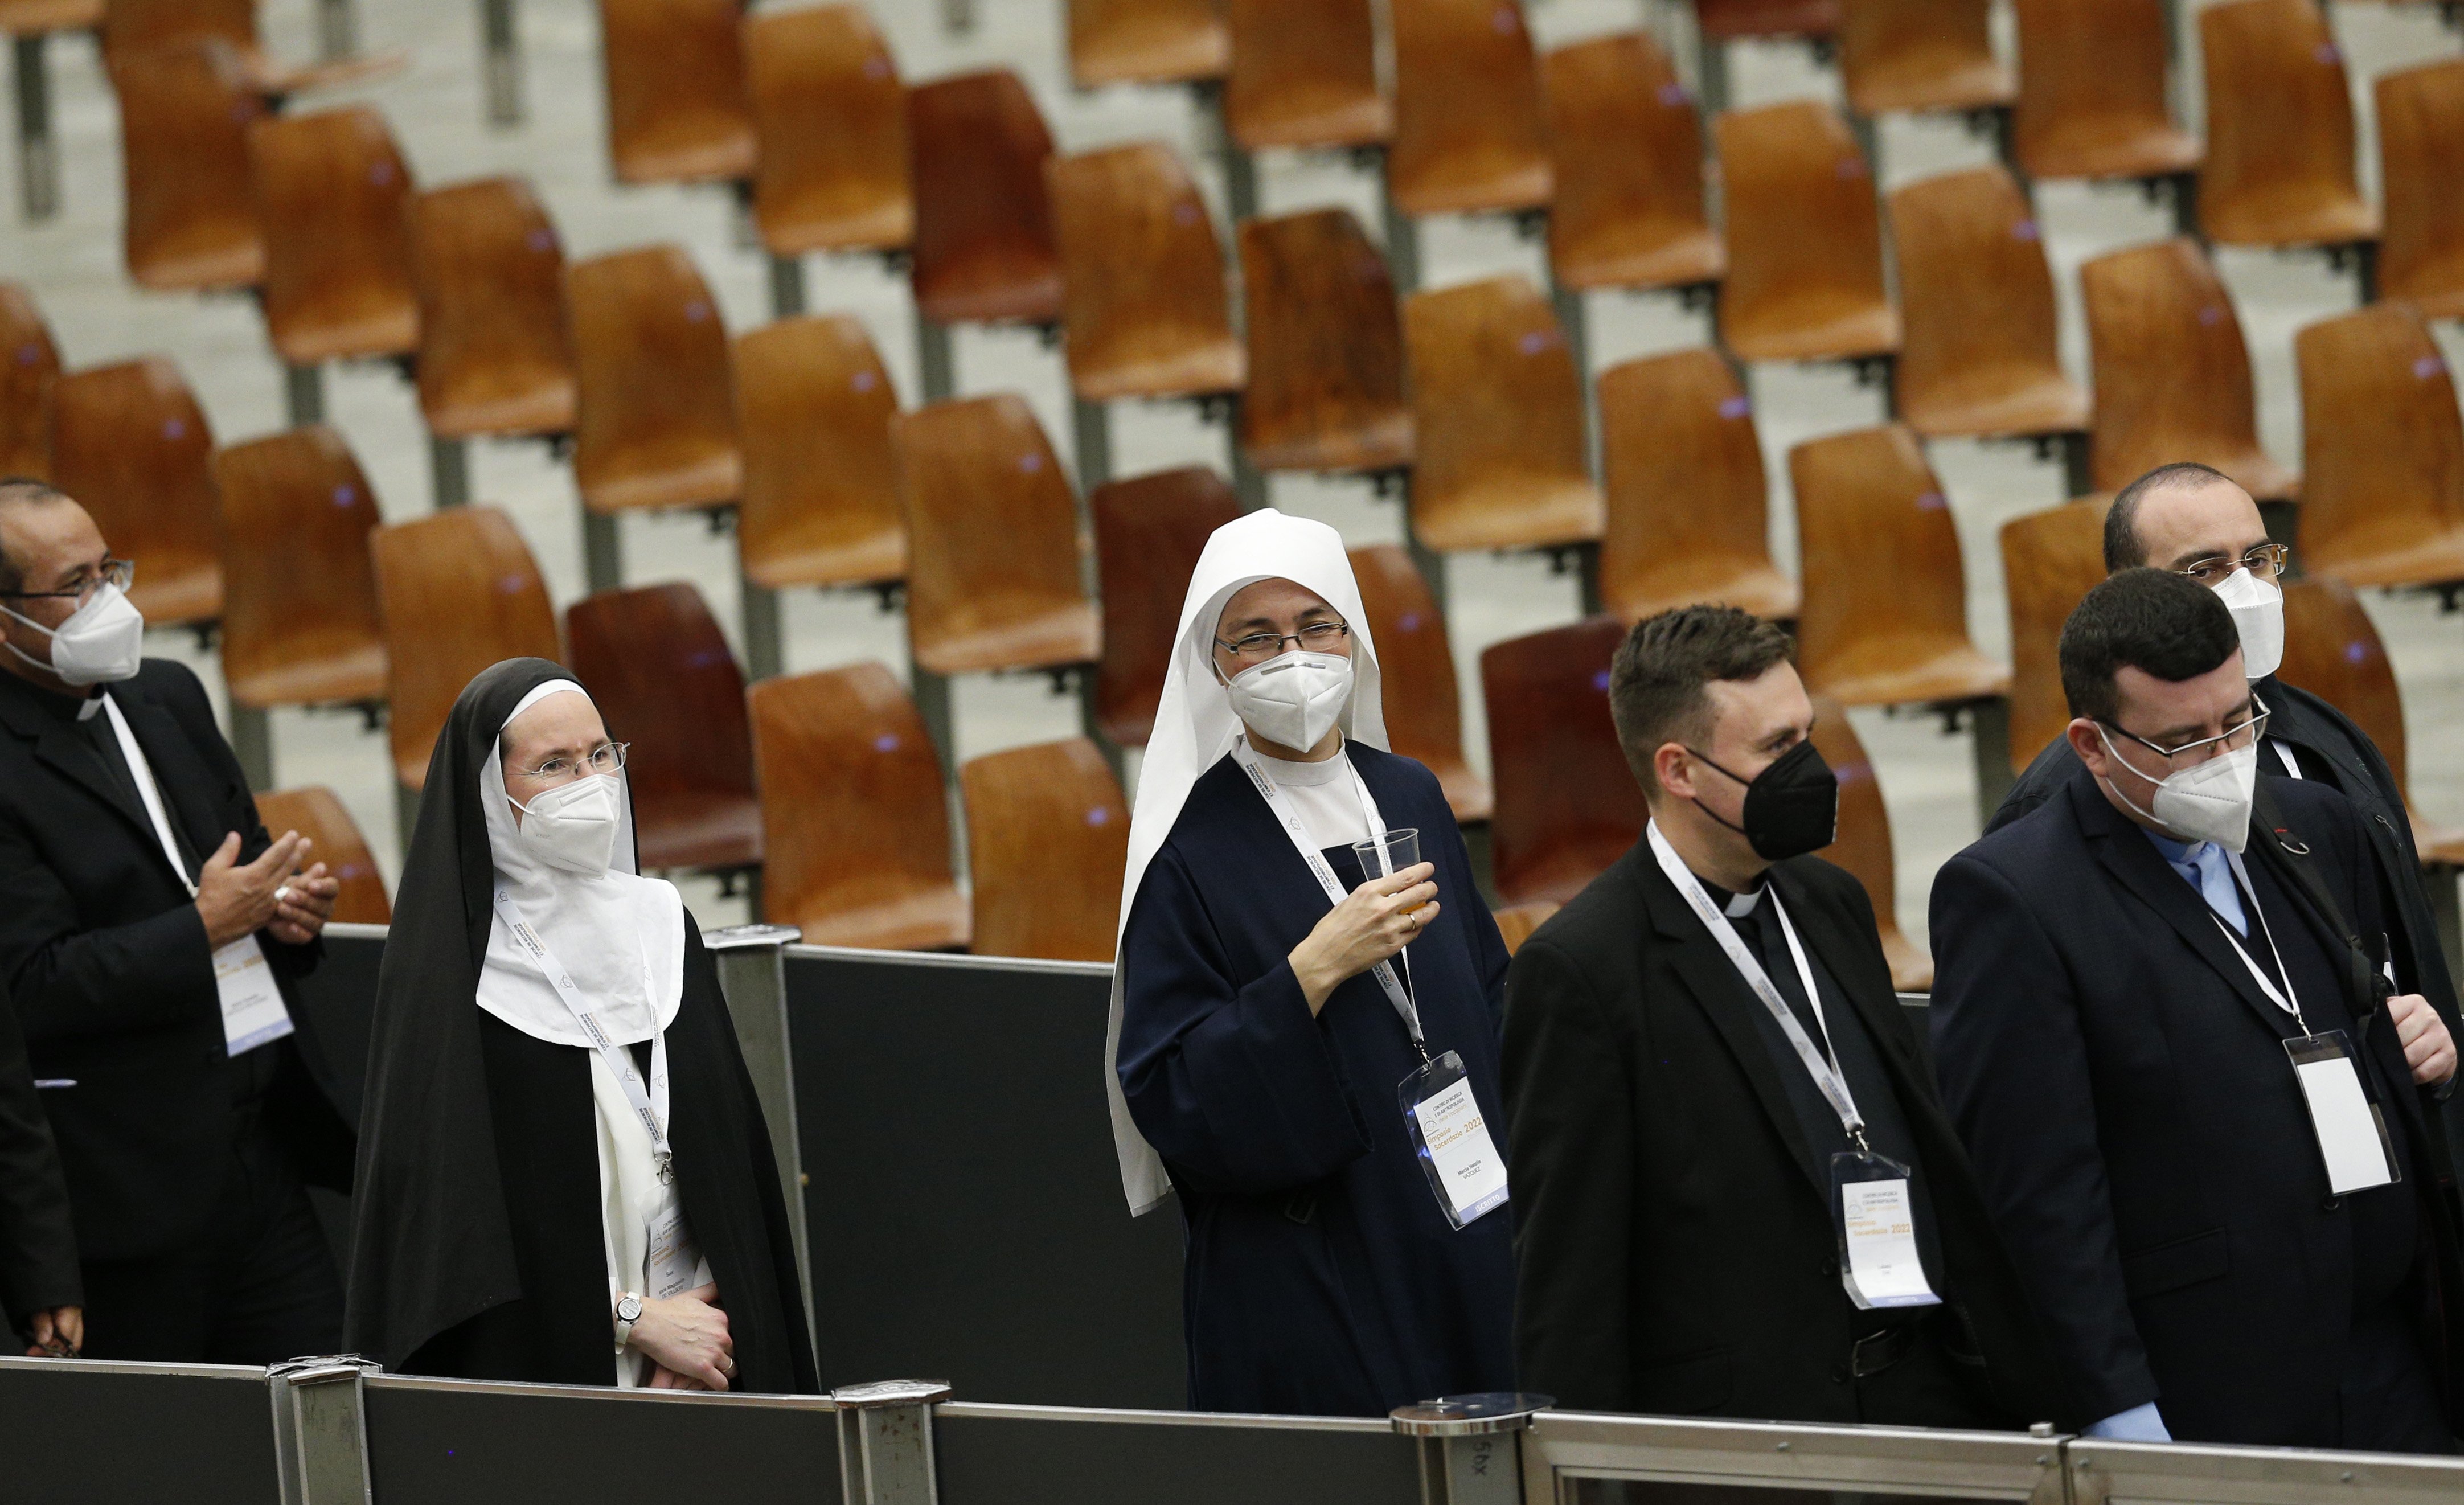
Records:
{"label": "wooden seat directly behind the one above the black-veiled nun's head", "polygon": [[483,177],[411,200],[411,283],[429,434],[572,434],[564,246],[530,182]]}

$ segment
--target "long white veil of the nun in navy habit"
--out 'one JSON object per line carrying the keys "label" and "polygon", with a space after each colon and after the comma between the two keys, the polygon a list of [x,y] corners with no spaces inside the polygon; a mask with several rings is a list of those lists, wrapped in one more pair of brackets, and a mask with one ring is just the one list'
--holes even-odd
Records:
{"label": "long white veil of the nun in navy habit", "polygon": [[[1232,594],[1262,579],[1289,579],[1343,613],[1353,628],[1353,700],[1343,707],[1340,727],[1350,739],[1380,751],[1387,746],[1385,709],[1377,700],[1377,645],[1370,640],[1368,613],[1360,608],[1360,584],[1343,552],[1343,535],[1323,522],[1289,517],[1271,507],[1217,527],[1198,557],[1190,594],[1180,603],[1180,633],[1173,638],[1170,668],[1163,670],[1156,732],[1148,736],[1146,761],[1138,766],[1138,803],[1129,818],[1129,872],[1121,879],[1116,938],[1121,929],[1129,929],[1129,906],[1138,899],[1146,865],[1156,860],[1163,837],[1180,820],[1190,786],[1232,751],[1232,741],[1239,736],[1239,717],[1232,714],[1232,702],[1225,700],[1222,685],[1215,680],[1210,650],[1215,623]],[[1173,1180],[1163,1170],[1163,1158],[1131,1121],[1129,1099],[1121,1096],[1116,1062],[1121,1057],[1124,973],[1126,963],[1114,963],[1111,1022],[1104,1030],[1104,1091],[1111,1099],[1111,1138],[1121,1153],[1121,1190],[1129,1192],[1131,1214],[1143,1214],[1173,1190]]]}

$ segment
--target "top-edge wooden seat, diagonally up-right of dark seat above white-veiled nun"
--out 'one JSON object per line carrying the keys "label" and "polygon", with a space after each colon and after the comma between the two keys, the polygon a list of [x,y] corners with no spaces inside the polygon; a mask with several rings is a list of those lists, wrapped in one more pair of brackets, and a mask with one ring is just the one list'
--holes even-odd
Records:
{"label": "top-edge wooden seat, diagonally up-right of dark seat above white-veiled nun", "polygon": [[1404,214],[1513,214],[1547,204],[1540,69],[1515,0],[1387,0],[1395,145],[1387,195]]}

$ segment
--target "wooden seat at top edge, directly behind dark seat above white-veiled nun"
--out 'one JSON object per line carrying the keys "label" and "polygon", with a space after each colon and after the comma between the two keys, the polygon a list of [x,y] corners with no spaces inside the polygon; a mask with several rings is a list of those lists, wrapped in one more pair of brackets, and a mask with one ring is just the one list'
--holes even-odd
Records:
{"label": "wooden seat at top edge, directly behind dark seat above white-veiled nun", "polygon": [[1242,150],[1385,143],[1370,0],[1230,0],[1225,128]]}

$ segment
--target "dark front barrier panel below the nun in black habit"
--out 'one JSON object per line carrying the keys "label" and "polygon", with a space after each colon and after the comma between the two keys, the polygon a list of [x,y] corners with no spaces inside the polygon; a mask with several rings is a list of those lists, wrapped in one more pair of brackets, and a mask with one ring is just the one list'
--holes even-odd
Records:
{"label": "dark front barrier panel below the nun in black habit", "polygon": [[[264,1404],[259,1384],[259,1434]],[[823,1399],[382,1377],[367,1382],[367,1463],[382,1505],[840,1503]]]}

